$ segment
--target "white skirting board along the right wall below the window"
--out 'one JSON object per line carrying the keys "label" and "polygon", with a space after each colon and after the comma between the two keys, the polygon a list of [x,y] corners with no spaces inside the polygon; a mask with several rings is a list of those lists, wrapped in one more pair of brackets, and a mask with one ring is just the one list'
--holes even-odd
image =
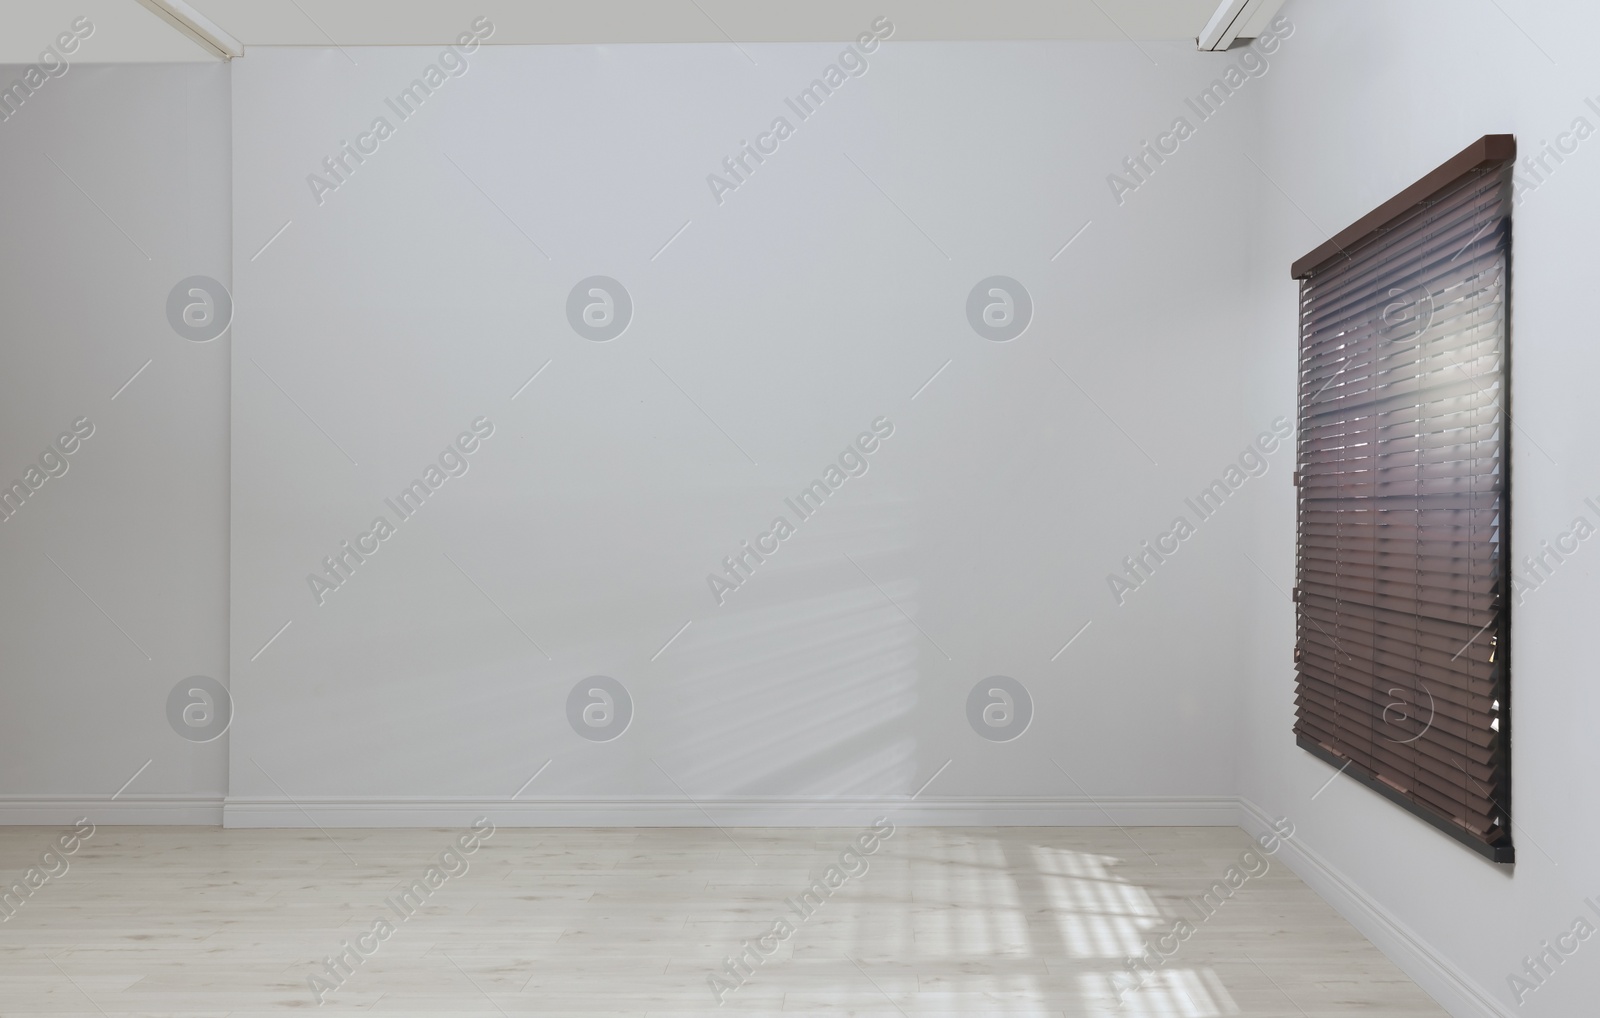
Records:
{"label": "white skirting board along the right wall below the window", "polygon": [[[1238,826],[1256,837],[1270,829],[1272,818],[1250,799],[1240,799]],[[1454,1018],[1512,1018],[1512,1012],[1488,991],[1309,848],[1302,839],[1285,840],[1278,858]]]}

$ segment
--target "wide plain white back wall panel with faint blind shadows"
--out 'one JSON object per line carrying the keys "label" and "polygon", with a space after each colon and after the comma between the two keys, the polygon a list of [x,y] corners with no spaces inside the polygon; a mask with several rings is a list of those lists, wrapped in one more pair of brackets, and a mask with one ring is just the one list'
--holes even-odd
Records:
{"label": "wide plain white back wall panel with faint blind shadows", "polygon": [[[546,760],[522,799],[678,823],[902,800],[947,760],[918,802],[990,820],[1230,794],[1248,517],[1123,607],[1106,575],[1270,419],[1237,328],[1264,82],[1118,206],[1107,174],[1237,54],[890,43],[718,206],[706,176],[840,46],[747,50],[480,51],[403,123],[384,99],[437,50],[234,64],[229,823],[507,799]],[[307,174],[378,115],[318,205]],[[565,314],[594,274],[635,304],[610,343]],[[965,315],[995,274],[1035,303],[1011,343]],[[322,557],[478,416],[470,471],[315,603]],[[717,605],[707,573],[880,416],[870,471]],[[611,743],[566,722],[592,674],[635,703]],[[1032,691],[1014,743],[966,722],[994,674]]]}

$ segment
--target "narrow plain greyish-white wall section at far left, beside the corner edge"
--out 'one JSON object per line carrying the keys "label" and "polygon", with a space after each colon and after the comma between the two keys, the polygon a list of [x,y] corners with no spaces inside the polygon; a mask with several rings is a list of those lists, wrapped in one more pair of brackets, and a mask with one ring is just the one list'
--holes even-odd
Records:
{"label": "narrow plain greyish-white wall section at far left, beside the corner edge", "polygon": [[226,743],[166,698],[227,680],[229,338],[165,307],[229,279],[229,72],[72,66],[0,123],[0,480],[94,426],[0,523],[0,815],[216,823]]}

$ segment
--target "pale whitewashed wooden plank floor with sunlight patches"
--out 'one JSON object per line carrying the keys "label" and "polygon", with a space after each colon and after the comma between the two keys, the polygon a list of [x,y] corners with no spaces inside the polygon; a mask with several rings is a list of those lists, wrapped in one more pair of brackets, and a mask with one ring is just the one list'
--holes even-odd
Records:
{"label": "pale whitewashed wooden plank floor with sunlight patches", "polygon": [[[0,877],[62,831],[0,828]],[[458,831],[102,826],[0,922],[0,1015],[1445,1018],[1277,860],[1200,922],[1237,829],[899,828],[790,912],[858,832],[501,828],[402,920],[386,898]],[[386,916],[318,1007],[322,959]],[[707,975],[779,917],[718,1005]],[[1112,973],[1178,917],[1194,933],[1117,1007]]]}

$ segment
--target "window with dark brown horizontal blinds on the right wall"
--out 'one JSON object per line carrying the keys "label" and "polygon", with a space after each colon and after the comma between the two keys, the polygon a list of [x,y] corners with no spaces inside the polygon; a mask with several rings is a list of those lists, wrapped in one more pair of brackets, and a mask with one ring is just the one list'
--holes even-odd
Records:
{"label": "window with dark brown horizontal blinds on the right wall", "polygon": [[1510,863],[1509,134],[1294,263],[1299,746]]}

